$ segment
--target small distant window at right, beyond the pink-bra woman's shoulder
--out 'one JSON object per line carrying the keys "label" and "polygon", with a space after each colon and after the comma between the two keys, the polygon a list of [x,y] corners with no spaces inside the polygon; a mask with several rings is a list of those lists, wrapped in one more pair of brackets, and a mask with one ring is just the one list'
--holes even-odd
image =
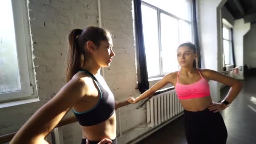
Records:
{"label": "small distant window at right, beyond the pink-bra woman's shoulder", "polygon": [[223,66],[233,65],[232,61],[232,45],[231,45],[231,30],[227,25],[223,24],[222,27],[223,36]]}

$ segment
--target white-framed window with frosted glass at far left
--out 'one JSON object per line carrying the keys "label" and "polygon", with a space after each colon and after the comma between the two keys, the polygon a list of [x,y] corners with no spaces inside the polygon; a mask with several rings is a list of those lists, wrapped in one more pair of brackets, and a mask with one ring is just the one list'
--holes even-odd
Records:
{"label": "white-framed window with frosted glass at far left", "polygon": [[0,102],[31,97],[26,1],[1,0],[0,13]]}

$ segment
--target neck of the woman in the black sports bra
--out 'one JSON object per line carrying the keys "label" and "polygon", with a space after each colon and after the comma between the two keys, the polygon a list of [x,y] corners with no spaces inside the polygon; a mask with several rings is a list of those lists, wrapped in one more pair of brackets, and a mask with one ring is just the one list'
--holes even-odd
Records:
{"label": "neck of the woman in the black sports bra", "polygon": [[101,67],[96,63],[96,61],[93,60],[84,61],[81,68],[91,72],[93,75],[97,75],[101,71]]}

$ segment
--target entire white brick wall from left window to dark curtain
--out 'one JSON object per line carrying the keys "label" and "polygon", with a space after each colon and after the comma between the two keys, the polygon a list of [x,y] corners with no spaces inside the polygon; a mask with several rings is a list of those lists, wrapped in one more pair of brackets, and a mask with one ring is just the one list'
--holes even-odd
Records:
{"label": "entire white brick wall from left window to dark curtain", "polygon": [[[105,79],[115,99],[138,96],[136,90],[135,47],[133,37],[132,0],[100,0],[102,27],[113,35],[116,56],[104,69]],[[67,35],[72,29],[99,27],[97,0],[29,0],[29,18],[40,101],[0,108],[0,135],[19,128],[50,100],[64,85],[64,60],[67,55]],[[121,139],[122,133],[146,123],[146,109],[138,104],[117,111],[117,134],[122,143],[135,136]],[[65,117],[74,116],[69,112]],[[81,130],[77,123],[63,126],[64,144],[80,144]]]}

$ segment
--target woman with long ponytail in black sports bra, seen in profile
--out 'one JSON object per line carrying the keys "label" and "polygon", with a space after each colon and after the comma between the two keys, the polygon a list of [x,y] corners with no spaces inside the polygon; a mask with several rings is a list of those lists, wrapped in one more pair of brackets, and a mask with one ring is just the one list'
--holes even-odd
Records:
{"label": "woman with long ponytail in black sports bra, seen in profile", "polygon": [[10,144],[47,143],[45,137],[70,109],[82,129],[82,144],[117,144],[115,99],[100,75],[101,67],[109,67],[115,56],[111,35],[87,27],[73,29],[68,39],[67,84],[30,117]]}

